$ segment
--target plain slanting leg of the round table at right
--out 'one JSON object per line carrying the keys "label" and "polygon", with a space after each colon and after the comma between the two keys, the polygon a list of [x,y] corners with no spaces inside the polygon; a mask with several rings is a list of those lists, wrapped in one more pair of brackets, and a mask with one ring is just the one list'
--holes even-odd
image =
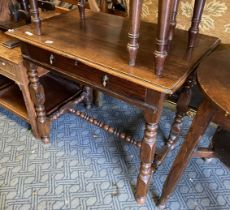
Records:
{"label": "plain slanting leg of the round table at right", "polygon": [[213,115],[214,108],[209,101],[205,100],[197,111],[189,133],[187,134],[164,183],[162,195],[158,204],[160,208],[165,207],[165,203],[175,189],[176,184],[182,176],[183,171],[192,157],[195,147],[207,129]]}

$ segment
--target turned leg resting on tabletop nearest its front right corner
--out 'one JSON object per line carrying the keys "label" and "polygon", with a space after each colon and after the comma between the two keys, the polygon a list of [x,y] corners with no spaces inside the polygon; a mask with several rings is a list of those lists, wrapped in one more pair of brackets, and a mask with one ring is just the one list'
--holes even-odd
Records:
{"label": "turned leg resting on tabletop nearest its front right corner", "polygon": [[161,76],[164,69],[165,59],[167,57],[167,45],[169,40],[171,0],[158,1],[158,30],[156,38],[155,55],[155,73]]}

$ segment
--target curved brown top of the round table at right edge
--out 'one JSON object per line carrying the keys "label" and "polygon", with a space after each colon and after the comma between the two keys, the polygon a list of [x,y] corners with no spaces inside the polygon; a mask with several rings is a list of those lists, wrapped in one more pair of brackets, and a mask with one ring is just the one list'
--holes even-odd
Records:
{"label": "curved brown top of the round table at right edge", "polygon": [[199,67],[198,82],[205,95],[230,114],[230,45],[222,45]]}

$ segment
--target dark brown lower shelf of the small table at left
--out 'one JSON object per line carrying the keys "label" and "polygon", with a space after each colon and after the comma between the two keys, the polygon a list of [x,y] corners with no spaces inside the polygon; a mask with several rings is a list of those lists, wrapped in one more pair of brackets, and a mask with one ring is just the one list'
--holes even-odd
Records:
{"label": "dark brown lower shelf of the small table at left", "polygon": [[[8,80],[8,79],[7,79]],[[47,115],[55,112],[59,107],[75,97],[79,91],[79,86],[58,76],[47,74],[40,79],[44,86],[46,95]],[[1,86],[1,78],[0,78]],[[55,97],[54,97],[55,95]],[[17,84],[12,83],[0,90],[0,106],[8,109],[29,122],[25,102]]]}

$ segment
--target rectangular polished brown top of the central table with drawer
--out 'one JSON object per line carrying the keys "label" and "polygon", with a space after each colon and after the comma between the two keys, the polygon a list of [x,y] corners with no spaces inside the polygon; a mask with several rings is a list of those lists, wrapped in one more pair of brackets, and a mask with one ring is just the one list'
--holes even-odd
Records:
{"label": "rectangular polished brown top of the central table with drawer", "polygon": [[[73,10],[42,23],[42,36],[30,24],[8,35],[53,53],[76,59],[86,65],[135,82],[144,87],[171,94],[192,72],[197,62],[218,44],[219,39],[199,35],[199,43],[191,56],[186,57],[187,32],[176,30],[162,78],[154,74],[154,43],[156,25],[142,22],[140,48],[135,67],[128,65],[128,19],[86,10],[86,21],[80,23],[79,13]],[[47,44],[52,41],[52,44]],[[189,58],[188,58],[189,57]]]}

